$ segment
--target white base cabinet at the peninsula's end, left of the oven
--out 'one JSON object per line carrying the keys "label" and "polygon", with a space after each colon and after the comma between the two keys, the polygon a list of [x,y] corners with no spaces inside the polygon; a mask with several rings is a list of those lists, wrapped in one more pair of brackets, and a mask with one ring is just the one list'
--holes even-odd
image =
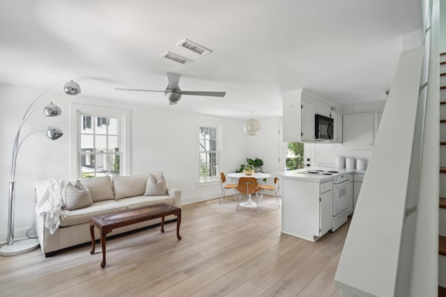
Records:
{"label": "white base cabinet at the peninsula's end, left of the oven", "polygon": [[316,241],[332,228],[332,181],[282,180],[282,232]]}

